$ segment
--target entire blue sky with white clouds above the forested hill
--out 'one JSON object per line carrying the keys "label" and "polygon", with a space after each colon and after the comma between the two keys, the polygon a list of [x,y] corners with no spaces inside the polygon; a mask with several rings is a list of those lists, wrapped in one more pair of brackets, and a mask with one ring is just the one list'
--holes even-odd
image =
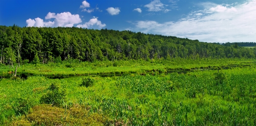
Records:
{"label": "entire blue sky with white clouds above the forested hill", "polygon": [[0,0],[0,25],[14,24],[256,42],[256,0]]}

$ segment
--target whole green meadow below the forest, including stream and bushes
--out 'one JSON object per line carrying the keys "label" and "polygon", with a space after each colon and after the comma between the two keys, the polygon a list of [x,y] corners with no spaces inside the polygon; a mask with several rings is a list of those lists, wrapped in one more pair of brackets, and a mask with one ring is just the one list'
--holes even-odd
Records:
{"label": "whole green meadow below the forest, including stream and bushes", "polygon": [[255,126],[253,59],[1,66],[1,126]]}

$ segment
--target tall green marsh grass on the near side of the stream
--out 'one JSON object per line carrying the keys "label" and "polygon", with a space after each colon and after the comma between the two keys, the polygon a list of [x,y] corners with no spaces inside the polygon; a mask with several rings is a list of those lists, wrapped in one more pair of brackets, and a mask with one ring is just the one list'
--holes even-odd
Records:
{"label": "tall green marsh grass on the near side of the stream", "polygon": [[[84,76],[1,79],[0,125],[52,125],[41,121],[40,114],[53,116],[52,122],[65,126],[256,125],[253,66],[187,74],[155,72],[158,74],[91,76],[90,86],[81,86]],[[52,83],[65,90],[65,100],[58,107],[40,102]],[[48,115],[47,110],[56,113]],[[91,123],[78,123],[79,118]],[[41,123],[33,123],[39,120]]]}

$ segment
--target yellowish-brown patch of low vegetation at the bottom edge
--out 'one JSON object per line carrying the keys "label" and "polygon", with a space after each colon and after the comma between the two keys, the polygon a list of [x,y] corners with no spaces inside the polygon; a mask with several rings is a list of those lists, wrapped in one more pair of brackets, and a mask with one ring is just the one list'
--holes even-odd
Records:
{"label": "yellowish-brown patch of low vegetation at the bottom edge", "polygon": [[12,122],[12,126],[104,126],[109,122],[107,117],[91,114],[81,105],[63,109],[42,104],[30,109],[25,118]]}

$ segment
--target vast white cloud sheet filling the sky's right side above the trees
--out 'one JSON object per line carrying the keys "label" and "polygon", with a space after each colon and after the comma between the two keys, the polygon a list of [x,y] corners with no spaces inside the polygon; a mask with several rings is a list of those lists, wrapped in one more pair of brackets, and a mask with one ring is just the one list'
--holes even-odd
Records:
{"label": "vast white cloud sheet filling the sky's right side above the trees", "polygon": [[[256,0],[234,5],[207,3],[179,21],[136,21],[134,31],[177,36],[204,42],[253,42],[256,40]],[[131,28],[130,28],[131,29]]]}

